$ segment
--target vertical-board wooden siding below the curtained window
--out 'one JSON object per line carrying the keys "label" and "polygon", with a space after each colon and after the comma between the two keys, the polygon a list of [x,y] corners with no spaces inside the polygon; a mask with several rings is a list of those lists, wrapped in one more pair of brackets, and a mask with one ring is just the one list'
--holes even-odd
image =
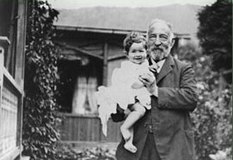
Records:
{"label": "vertical-board wooden siding below the curtained window", "polygon": [[75,115],[61,113],[63,120],[60,126],[61,140],[65,142],[119,142],[120,123],[108,122],[108,133],[102,133],[100,119],[95,115]]}

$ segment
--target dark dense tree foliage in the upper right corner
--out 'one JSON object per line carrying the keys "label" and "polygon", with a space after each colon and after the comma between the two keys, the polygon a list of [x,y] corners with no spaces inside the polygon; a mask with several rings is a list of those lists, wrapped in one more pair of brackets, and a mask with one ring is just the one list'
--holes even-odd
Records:
{"label": "dark dense tree foliage in the upper right corner", "polygon": [[[203,54],[213,58],[213,69],[232,68],[232,2],[217,0],[198,13],[198,38]],[[231,83],[231,72],[226,79]]]}

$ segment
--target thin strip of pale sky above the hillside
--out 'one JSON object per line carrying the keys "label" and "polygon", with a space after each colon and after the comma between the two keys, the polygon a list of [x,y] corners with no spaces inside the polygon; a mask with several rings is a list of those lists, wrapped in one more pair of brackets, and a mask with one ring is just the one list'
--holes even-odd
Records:
{"label": "thin strip of pale sky above the hillside", "polygon": [[216,0],[48,0],[57,9],[76,9],[83,7],[156,7],[169,4],[211,5]]}

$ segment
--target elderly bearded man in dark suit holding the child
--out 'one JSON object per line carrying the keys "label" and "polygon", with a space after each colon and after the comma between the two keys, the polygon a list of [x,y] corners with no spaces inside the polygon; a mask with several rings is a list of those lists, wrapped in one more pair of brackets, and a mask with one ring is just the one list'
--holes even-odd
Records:
{"label": "elderly bearded man in dark suit holding the child", "polygon": [[[155,19],[148,29],[149,74],[139,79],[151,94],[151,110],[134,125],[136,153],[117,148],[118,160],[194,160],[194,137],[189,113],[196,107],[196,83],[190,65],[170,55],[171,25]],[[156,65],[156,67],[154,67]]]}

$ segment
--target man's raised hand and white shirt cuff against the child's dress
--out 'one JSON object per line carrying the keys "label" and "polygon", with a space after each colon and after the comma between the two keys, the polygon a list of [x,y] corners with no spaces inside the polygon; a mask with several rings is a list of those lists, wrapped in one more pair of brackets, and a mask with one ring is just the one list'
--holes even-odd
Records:
{"label": "man's raised hand and white shirt cuff against the child's dress", "polygon": [[158,87],[156,85],[156,79],[153,74],[144,73],[140,75],[138,79],[146,86],[150,94],[158,97]]}

